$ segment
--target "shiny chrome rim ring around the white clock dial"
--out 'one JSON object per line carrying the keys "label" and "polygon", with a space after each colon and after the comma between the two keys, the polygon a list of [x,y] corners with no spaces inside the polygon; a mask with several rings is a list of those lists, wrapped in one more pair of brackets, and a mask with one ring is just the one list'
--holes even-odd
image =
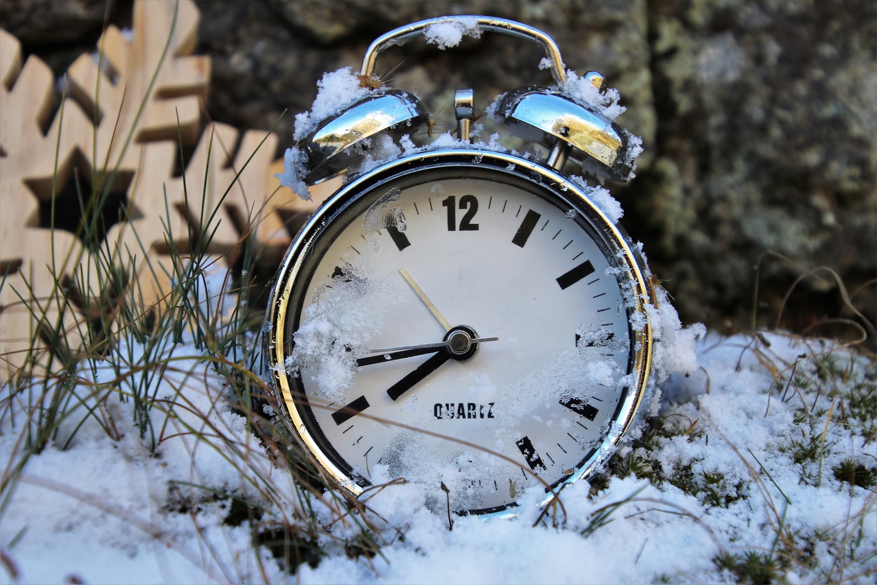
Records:
{"label": "shiny chrome rim ring around the white clock dial", "polygon": [[[631,328],[633,353],[630,372],[636,375],[636,383],[631,384],[630,391],[626,392],[626,396],[623,396],[622,400],[619,401],[617,411],[610,422],[609,431],[602,440],[601,446],[589,453],[575,468],[573,474],[561,478],[549,490],[546,490],[549,492],[549,498],[568,483],[587,477],[595,468],[602,466],[602,463],[610,458],[624,433],[633,423],[638,406],[645,395],[652,360],[652,327],[649,324],[646,310],[646,304],[652,303],[652,301],[643,275],[645,265],[641,265],[638,253],[631,248],[630,239],[617,225],[613,225],[606,218],[580,187],[570,181],[567,176],[552,168],[545,168],[537,162],[508,153],[467,148],[436,150],[403,157],[375,168],[366,175],[361,175],[347,183],[314,213],[298,233],[292,245],[289,246],[267,307],[267,320],[271,328],[269,332],[266,332],[265,347],[271,365],[272,380],[275,389],[278,389],[281,395],[284,414],[292,423],[298,438],[317,460],[317,463],[323,467],[325,473],[353,496],[360,496],[364,489],[363,486],[357,482],[358,478],[346,474],[335,465],[325,453],[324,448],[320,446],[319,441],[315,439],[314,433],[308,428],[306,421],[296,407],[296,392],[292,388],[292,382],[290,382],[291,376],[286,374],[284,367],[282,367],[291,351],[289,339],[291,339],[292,331],[290,328],[294,324],[289,323],[289,317],[291,310],[296,309],[290,304],[293,300],[291,295],[296,285],[296,279],[303,274],[303,269],[306,268],[309,260],[310,250],[317,244],[317,240],[332,225],[332,221],[339,218],[339,215],[348,206],[356,203],[361,196],[373,193],[374,189],[382,183],[395,181],[405,175],[459,165],[489,168],[492,172],[496,172],[496,180],[500,182],[503,175],[515,175],[518,179],[523,178],[525,181],[538,185],[538,189],[545,190],[551,196],[557,197],[558,202],[578,210],[582,218],[600,232],[604,242],[613,249],[612,251],[617,258],[617,261],[613,261],[613,263],[625,268],[624,278],[632,289],[634,299],[634,306],[629,307],[629,323],[631,317],[638,314],[646,324],[639,331],[634,331]],[[306,273],[304,277],[307,277]],[[502,510],[479,511],[495,513],[507,509],[508,506],[503,506]]]}

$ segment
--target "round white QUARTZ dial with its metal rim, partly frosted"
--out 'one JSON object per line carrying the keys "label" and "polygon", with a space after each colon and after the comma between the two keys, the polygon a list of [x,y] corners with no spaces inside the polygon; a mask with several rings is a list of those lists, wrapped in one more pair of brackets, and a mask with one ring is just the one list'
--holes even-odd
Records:
{"label": "round white QUARTZ dial with its metal rim, partly frosted", "polygon": [[648,343],[629,250],[572,186],[489,158],[365,182],[288,257],[281,386],[354,492],[404,477],[442,502],[444,483],[455,510],[502,509],[581,474],[635,410]]}

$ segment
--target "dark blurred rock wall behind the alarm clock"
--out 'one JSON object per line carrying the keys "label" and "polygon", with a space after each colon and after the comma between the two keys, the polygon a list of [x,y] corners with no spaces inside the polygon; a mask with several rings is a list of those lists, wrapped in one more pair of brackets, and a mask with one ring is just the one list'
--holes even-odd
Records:
{"label": "dark blurred rock wall behind the alarm clock", "polygon": [[[853,336],[826,319],[877,317],[877,3],[873,0],[211,0],[197,54],[212,58],[212,118],[277,125],[292,144],[324,71],[359,68],[377,35],[421,18],[488,14],[548,32],[567,67],[600,71],[622,94],[619,123],[644,139],[637,178],[607,185],[621,223],[685,322],[732,332],[781,325]],[[62,75],[92,51],[105,13],[131,25],[130,0],[4,0],[0,27]],[[535,46],[497,35],[439,51],[412,41],[378,69],[453,127],[457,87],[476,106],[547,84]],[[278,153],[278,155],[282,150]],[[760,266],[759,271],[756,267]],[[820,277],[821,276],[821,277]],[[826,278],[827,277],[827,278]],[[758,294],[755,283],[758,280]]]}

